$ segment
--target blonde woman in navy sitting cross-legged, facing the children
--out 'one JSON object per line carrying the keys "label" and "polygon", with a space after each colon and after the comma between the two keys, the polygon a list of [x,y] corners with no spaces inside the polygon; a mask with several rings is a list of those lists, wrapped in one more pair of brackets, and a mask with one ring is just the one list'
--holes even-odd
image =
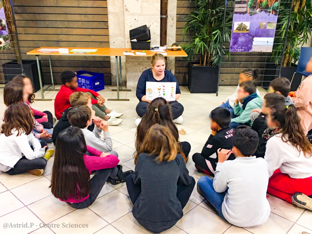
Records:
{"label": "blonde woman in navy sitting cross-legged, facing the children", "polygon": [[[140,102],[137,104],[137,115],[143,117],[147,111],[148,103],[151,100],[146,100],[146,82],[176,82],[176,100],[179,99],[181,91],[177,84],[176,77],[168,70],[166,70],[166,59],[162,54],[155,54],[151,60],[152,68],[145,70],[137,82],[137,98]],[[177,101],[170,101],[169,104],[172,110],[172,117],[174,123],[183,123],[182,113],[183,106]],[[140,119],[136,120],[136,126]]]}

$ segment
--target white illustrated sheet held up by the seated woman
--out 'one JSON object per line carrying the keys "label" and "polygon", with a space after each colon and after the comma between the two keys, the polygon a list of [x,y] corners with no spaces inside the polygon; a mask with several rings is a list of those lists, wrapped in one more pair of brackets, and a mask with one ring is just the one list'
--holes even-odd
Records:
{"label": "white illustrated sheet held up by the seated woman", "polygon": [[176,100],[176,82],[146,82],[146,100],[165,98],[166,101]]}

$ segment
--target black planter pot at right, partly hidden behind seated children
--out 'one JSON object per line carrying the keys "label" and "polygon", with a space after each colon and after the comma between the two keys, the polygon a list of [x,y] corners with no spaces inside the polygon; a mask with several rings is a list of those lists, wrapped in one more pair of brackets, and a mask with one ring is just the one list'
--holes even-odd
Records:
{"label": "black planter pot at right, partly hidden behind seated children", "polygon": [[[274,78],[277,78],[279,75],[279,67],[275,66],[275,64],[266,64],[265,66],[266,69],[270,70],[265,70],[264,71],[264,80],[262,81],[262,87],[263,88],[268,88],[270,81],[272,81]],[[275,70],[274,70],[275,69]],[[292,82],[291,85],[291,91],[296,91],[299,84],[301,83],[301,78],[302,75],[295,73],[297,70],[297,66],[294,67],[282,67],[281,70],[281,77],[288,78],[289,81]],[[295,74],[294,74],[295,73]],[[293,76],[294,74],[294,76]],[[292,79],[293,76],[293,79]]]}

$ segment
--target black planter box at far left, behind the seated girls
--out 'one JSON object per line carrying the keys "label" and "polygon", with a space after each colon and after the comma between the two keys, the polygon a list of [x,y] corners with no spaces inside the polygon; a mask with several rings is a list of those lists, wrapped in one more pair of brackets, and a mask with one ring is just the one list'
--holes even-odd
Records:
{"label": "black planter box at far left, behind the seated girls", "polygon": [[[39,72],[36,60],[22,60],[25,76],[29,77],[33,87],[34,93],[40,89]],[[41,68],[41,61],[40,68]],[[2,64],[5,83],[10,82],[15,76],[21,75],[20,64],[17,60],[12,60]]]}

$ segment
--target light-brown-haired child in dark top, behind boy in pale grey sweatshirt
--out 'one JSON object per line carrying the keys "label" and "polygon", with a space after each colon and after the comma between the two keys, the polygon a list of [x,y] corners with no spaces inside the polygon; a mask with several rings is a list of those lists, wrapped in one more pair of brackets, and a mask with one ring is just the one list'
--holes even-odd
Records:
{"label": "light-brown-haired child in dark top, behind boy in pale grey sweatshirt", "polygon": [[[87,106],[89,107],[90,110],[92,110],[91,95],[88,93],[84,93],[84,92],[72,93],[71,96],[69,96],[69,101],[72,107],[69,107],[64,111],[62,117],[59,119],[58,123],[55,125],[53,129],[52,140],[53,140],[54,145],[56,144],[59,133],[63,131],[64,129],[71,126],[68,121],[67,115],[69,111],[73,109],[73,107]],[[88,126],[88,130],[91,132],[94,130],[94,123]]]}

